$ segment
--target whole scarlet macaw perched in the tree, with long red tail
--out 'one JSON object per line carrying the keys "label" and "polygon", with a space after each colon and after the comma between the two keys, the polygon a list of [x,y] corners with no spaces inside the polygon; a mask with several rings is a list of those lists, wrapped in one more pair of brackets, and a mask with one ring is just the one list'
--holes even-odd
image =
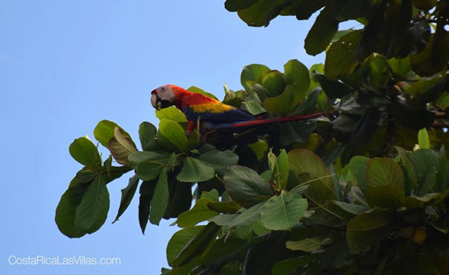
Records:
{"label": "whole scarlet macaw perched in the tree, with long red tail", "polygon": [[295,122],[303,119],[320,117],[326,113],[298,115],[294,117],[278,117],[265,119],[265,116],[254,116],[234,106],[229,106],[203,94],[189,92],[176,85],[164,85],[151,92],[151,104],[157,110],[175,106],[187,117],[189,126],[187,135],[194,131],[198,119],[203,131],[224,128],[249,128],[274,124],[278,122]]}

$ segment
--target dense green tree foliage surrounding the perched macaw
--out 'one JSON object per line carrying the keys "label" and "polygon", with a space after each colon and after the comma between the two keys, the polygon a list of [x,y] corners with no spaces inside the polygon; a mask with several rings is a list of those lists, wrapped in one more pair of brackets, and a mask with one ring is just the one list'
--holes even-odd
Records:
{"label": "dense green tree foliage surrounding the perched macaw", "polygon": [[[176,218],[163,274],[448,274],[448,1],[225,6],[249,26],[321,10],[305,47],[326,51],[324,65],[246,66],[244,90],[225,87],[223,102],[253,115],[329,117],[187,137],[187,119],[171,107],[156,111],[158,128],[141,124],[141,150],[104,120],[93,133],[109,158],[88,137],[70,145],[84,167],[56,209],[61,232],[97,231],[107,183],[134,170],[114,222],[137,188],[142,232]],[[349,19],[363,29],[338,31]]]}

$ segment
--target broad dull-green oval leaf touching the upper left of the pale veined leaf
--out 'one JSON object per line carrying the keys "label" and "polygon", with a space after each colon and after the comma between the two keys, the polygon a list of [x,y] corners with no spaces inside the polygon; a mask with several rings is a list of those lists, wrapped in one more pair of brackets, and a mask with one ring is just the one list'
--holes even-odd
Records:
{"label": "broad dull-green oval leaf touching the upper left of the pale veined leaf", "polygon": [[269,184],[248,167],[229,167],[223,177],[223,183],[229,196],[245,208],[259,203],[260,197],[272,196]]}

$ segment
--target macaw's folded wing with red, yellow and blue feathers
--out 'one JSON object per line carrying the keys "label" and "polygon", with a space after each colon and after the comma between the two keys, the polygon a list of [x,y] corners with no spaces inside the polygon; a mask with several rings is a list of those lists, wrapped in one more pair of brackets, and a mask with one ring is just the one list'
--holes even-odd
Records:
{"label": "macaw's folded wing with red, yellow and blue feathers", "polygon": [[190,120],[212,122],[247,122],[255,117],[250,113],[229,106],[203,94],[192,94],[182,100],[182,111]]}

